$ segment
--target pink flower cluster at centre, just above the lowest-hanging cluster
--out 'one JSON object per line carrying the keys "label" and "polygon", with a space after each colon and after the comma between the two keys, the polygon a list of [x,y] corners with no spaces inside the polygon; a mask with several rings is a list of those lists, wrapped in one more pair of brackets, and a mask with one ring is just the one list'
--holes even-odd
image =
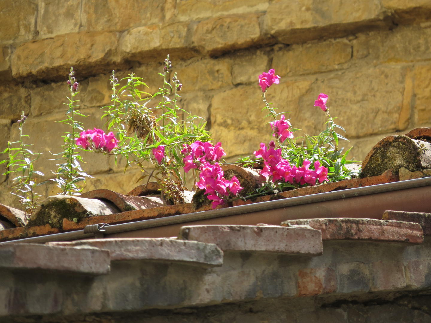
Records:
{"label": "pink flower cluster at centre, just above the lowest-hanging cluster", "polygon": [[184,149],[181,152],[185,155],[183,162],[186,173],[192,168],[199,168],[200,165],[206,162],[219,162],[226,155],[220,142],[212,146],[209,142],[202,143],[197,140],[191,145],[184,144],[183,147]]}

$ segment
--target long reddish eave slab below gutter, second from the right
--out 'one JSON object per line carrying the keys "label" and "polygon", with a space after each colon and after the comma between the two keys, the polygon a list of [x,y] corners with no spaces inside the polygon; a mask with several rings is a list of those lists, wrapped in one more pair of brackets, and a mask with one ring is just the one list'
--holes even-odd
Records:
{"label": "long reddish eave slab below gutter, second from the right", "polygon": [[417,223],[360,218],[289,220],[282,226],[308,225],[322,231],[322,240],[364,240],[376,242],[422,243],[422,227]]}

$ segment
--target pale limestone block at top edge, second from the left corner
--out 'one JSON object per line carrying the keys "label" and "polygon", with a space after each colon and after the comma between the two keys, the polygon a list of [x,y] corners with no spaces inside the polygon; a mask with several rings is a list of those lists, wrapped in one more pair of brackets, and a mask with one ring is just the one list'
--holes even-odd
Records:
{"label": "pale limestone block at top edge, second from the left corner", "polygon": [[78,32],[81,24],[81,0],[39,2],[37,31],[39,38]]}

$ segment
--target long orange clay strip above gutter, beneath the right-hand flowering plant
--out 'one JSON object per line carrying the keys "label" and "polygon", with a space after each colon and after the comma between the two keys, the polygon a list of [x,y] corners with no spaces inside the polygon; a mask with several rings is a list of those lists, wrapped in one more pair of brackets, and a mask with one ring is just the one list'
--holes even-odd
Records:
{"label": "long orange clay strip above gutter, beneath the right-hand flowering plant", "polygon": [[326,183],[321,185],[315,185],[315,186],[306,186],[301,187],[299,189],[293,189],[286,192],[281,192],[276,195],[267,195],[267,196],[259,196],[255,199],[248,199],[247,201],[244,200],[235,200],[233,205],[244,205],[244,204],[251,204],[251,203],[257,203],[257,202],[266,202],[266,201],[272,201],[276,199],[288,199],[290,197],[296,197],[296,196],[305,196],[305,195],[311,195],[311,194],[317,194],[317,193],[325,193],[325,192],[332,192],[332,191],[338,191],[341,189],[351,189],[355,187],[362,187],[362,186],[371,186],[371,185],[377,185],[377,184],[384,184],[384,183],[392,183],[397,182],[398,176],[395,175],[392,170],[387,170],[381,175],[372,176],[372,177],[365,177],[365,178],[352,178],[351,180],[340,180],[339,182],[332,182],[332,183]]}

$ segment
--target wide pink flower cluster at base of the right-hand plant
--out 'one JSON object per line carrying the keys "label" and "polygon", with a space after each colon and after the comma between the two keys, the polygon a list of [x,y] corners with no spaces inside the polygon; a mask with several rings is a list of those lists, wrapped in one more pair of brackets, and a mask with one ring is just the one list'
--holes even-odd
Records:
{"label": "wide pink flower cluster at base of the right-hand plant", "polygon": [[260,149],[254,152],[257,158],[263,158],[264,167],[260,171],[265,177],[272,177],[272,182],[283,180],[291,184],[315,185],[316,180],[322,183],[328,180],[328,168],[320,166],[320,162],[314,162],[314,171],[309,169],[311,162],[304,160],[302,167],[291,165],[286,159],[281,157],[281,149],[275,149],[274,141],[266,147],[260,143]]}

